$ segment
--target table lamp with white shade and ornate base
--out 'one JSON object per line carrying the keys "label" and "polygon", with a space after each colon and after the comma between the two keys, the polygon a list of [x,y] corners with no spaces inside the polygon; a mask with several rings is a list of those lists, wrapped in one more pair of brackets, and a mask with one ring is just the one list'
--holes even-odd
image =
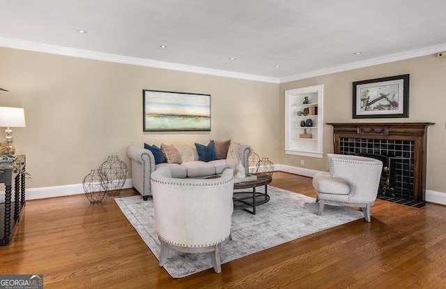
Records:
{"label": "table lamp with white shade and ornate base", "polygon": [[25,127],[25,112],[23,108],[0,107],[0,126],[6,127],[6,154],[14,156],[13,131],[10,128]]}

